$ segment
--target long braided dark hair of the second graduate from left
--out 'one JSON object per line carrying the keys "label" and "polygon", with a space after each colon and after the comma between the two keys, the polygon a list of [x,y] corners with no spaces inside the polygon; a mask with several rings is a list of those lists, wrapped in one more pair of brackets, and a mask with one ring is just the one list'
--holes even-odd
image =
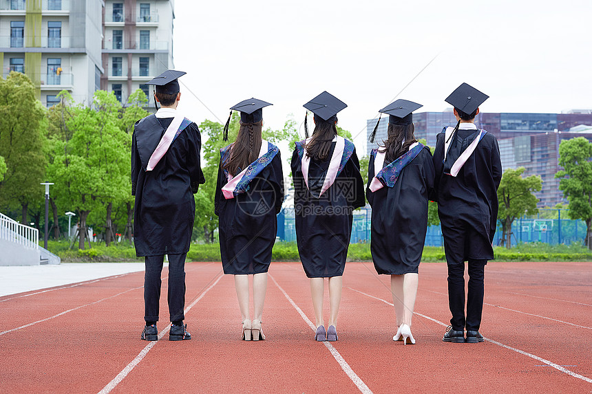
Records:
{"label": "long braided dark hair of the second graduate from left", "polygon": [[261,131],[263,121],[255,123],[240,122],[236,141],[230,149],[229,160],[224,163],[224,169],[232,175],[237,175],[259,157],[261,150]]}

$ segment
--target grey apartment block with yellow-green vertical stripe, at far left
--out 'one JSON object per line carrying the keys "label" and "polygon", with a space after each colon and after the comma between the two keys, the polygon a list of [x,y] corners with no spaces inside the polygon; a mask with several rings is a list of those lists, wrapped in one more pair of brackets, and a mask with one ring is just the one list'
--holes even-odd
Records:
{"label": "grey apartment block with yellow-green vertical stripe, at far left", "polygon": [[99,0],[0,0],[0,65],[31,78],[37,97],[51,106],[61,90],[91,102],[99,88]]}

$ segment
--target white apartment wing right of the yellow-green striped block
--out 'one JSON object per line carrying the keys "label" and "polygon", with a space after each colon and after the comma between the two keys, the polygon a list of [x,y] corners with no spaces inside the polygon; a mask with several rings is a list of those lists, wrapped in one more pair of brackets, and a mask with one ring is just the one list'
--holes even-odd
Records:
{"label": "white apartment wing right of the yellow-green striped block", "polygon": [[172,0],[105,0],[101,89],[121,102],[145,83],[173,68]]}

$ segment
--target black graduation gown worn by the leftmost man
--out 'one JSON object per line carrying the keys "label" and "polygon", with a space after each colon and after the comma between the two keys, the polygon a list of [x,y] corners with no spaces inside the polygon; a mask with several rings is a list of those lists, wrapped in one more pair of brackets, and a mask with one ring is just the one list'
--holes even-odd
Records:
{"label": "black graduation gown worn by the leftmost man", "polygon": [[189,252],[195,200],[205,182],[200,167],[201,135],[189,124],[171,143],[152,171],[148,160],[173,118],[149,115],[136,122],[131,143],[131,194],[134,206],[134,243],[138,256]]}

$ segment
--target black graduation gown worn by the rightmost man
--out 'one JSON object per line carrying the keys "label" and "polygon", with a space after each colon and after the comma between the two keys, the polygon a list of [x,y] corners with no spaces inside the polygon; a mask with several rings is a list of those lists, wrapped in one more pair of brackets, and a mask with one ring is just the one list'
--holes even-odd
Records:
{"label": "black graduation gown worn by the rightmost man", "polygon": [[[474,140],[476,129],[458,130],[457,144],[461,150]],[[498,219],[498,193],[502,165],[498,141],[486,133],[456,177],[443,173],[445,133],[436,137],[434,168],[436,193],[444,249],[448,264],[474,260],[491,260],[491,241]],[[451,145],[454,142],[451,142]]]}

